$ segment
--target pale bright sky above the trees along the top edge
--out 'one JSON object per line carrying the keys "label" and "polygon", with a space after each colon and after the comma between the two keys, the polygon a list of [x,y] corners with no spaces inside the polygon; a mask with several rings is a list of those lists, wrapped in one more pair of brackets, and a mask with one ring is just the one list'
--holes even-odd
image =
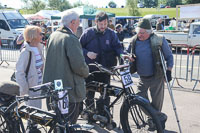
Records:
{"label": "pale bright sky above the trees along the top edge", "polygon": [[[68,1],[72,4],[79,0],[68,0]],[[111,0],[80,0],[80,1],[97,7],[105,7]],[[126,0],[113,0],[113,1],[117,4],[118,7],[121,7],[121,5],[125,5]],[[20,9],[24,6],[21,0],[0,0],[0,3],[3,6],[7,5],[7,7],[12,7],[15,9]]]}

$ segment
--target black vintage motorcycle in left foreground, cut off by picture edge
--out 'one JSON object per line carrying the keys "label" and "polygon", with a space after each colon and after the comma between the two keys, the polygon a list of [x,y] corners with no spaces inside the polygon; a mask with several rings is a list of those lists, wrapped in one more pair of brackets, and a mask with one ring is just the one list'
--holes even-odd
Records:
{"label": "black vintage motorcycle in left foreground, cut off by picture edge", "polygon": [[[23,119],[31,121],[31,123],[38,124],[44,129],[45,132],[48,133],[90,133],[89,130],[93,128],[92,125],[88,124],[72,124],[68,123],[67,118],[61,113],[61,110],[58,106],[59,101],[66,98],[68,93],[66,90],[70,89],[69,87],[65,88],[55,88],[54,83],[45,83],[39,86],[35,86],[30,88],[31,91],[40,91],[45,90],[46,94],[38,97],[29,97],[27,96],[10,96],[8,94],[2,94],[1,99],[6,99],[6,97],[10,97],[9,99],[4,100],[5,103],[2,103],[0,106],[0,132],[2,133],[25,133],[28,129],[33,129],[33,124],[27,126],[27,129],[24,127]],[[65,91],[64,95],[60,97],[58,95],[59,92]],[[22,102],[28,100],[36,100],[36,99],[46,99],[51,97],[53,99],[51,103],[51,107],[54,112],[47,112],[45,110],[22,105],[19,106]],[[67,104],[66,104],[67,106]],[[48,128],[47,128],[48,127]]]}

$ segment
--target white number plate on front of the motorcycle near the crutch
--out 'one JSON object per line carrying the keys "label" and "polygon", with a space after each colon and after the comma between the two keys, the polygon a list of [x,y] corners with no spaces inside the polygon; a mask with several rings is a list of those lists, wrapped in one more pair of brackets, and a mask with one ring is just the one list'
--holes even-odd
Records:
{"label": "white number plate on front of the motorcycle near the crutch", "polygon": [[129,70],[125,70],[123,72],[120,72],[122,83],[125,88],[128,88],[133,85],[133,80],[131,78],[131,74]]}

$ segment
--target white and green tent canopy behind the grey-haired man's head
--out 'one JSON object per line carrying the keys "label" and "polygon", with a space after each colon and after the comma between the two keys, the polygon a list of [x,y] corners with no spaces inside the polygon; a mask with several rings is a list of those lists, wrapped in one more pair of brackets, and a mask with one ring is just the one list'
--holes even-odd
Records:
{"label": "white and green tent canopy behind the grey-haired man's head", "polygon": [[[101,12],[100,10],[97,10],[97,9],[89,7],[89,6],[79,6],[79,7],[68,9],[68,10],[65,10],[65,11],[63,11],[61,13],[55,14],[55,15],[51,16],[51,19],[52,20],[54,20],[54,19],[61,19],[61,17],[66,12],[68,12],[68,11],[75,11],[75,12],[77,12],[80,15],[81,19],[95,19],[95,16],[99,12]],[[113,14],[113,13],[106,12],[106,14],[109,17],[115,17],[115,14]]]}

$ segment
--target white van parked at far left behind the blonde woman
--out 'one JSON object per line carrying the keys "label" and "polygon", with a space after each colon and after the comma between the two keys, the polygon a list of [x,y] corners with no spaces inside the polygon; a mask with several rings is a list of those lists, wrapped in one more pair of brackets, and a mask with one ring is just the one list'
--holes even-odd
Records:
{"label": "white van parked at far left behind the blonde woman", "polygon": [[3,44],[13,45],[16,37],[24,31],[28,21],[15,10],[0,10],[0,38]]}

